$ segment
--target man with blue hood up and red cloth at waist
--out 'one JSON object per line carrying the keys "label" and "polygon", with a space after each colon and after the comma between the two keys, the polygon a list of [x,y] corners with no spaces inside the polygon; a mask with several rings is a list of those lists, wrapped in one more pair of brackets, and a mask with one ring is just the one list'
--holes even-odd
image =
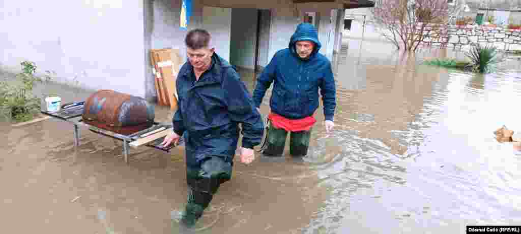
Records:
{"label": "man with blue hood up and red cloth at waist", "polygon": [[280,156],[288,132],[290,154],[307,154],[313,116],[319,105],[318,90],[324,103],[324,124],[329,133],[336,107],[336,89],[331,62],[318,53],[321,44],[313,24],[301,23],[291,36],[289,47],[277,51],[257,80],[253,101],[261,106],[266,90],[274,83],[269,102],[269,128],[264,154]]}

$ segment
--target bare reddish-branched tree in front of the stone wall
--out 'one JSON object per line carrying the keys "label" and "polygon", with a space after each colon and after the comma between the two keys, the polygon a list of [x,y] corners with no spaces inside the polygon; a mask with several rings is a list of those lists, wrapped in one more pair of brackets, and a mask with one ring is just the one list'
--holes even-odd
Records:
{"label": "bare reddish-branched tree in front of the stone wall", "polygon": [[416,51],[426,38],[446,38],[449,18],[460,9],[447,0],[378,0],[371,11],[383,37]]}

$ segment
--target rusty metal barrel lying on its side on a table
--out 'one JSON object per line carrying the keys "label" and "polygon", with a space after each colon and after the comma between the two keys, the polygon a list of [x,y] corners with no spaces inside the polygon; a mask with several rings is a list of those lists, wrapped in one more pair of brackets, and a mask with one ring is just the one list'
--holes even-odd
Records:
{"label": "rusty metal barrel lying on its side on a table", "polygon": [[144,98],[101,89],[85,100],[85,123],[119,134],[139,132],[154,123],[154,106]]}

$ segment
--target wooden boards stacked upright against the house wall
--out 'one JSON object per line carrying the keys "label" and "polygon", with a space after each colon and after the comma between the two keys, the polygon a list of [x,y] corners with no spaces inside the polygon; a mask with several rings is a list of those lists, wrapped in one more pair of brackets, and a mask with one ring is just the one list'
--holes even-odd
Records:
{"label": "wooden boards stacked upright against the house wall", "polygon": [[179,49],[151,49],[152,72],[155,76],[157,103],[177,109],[176,79],[182,64]]}

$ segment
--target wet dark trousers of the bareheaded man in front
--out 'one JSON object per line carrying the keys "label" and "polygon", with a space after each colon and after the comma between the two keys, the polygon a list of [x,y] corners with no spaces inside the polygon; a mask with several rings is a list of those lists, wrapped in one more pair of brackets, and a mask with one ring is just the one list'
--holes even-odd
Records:
{"label": "wet dark trousers of the bareheaded man in front", "polygon": [[181,221],[193,226],[212,201],[219,185],[231,178],[231,157],[211,156],[201,162],[201,167],[187,166],[188,198]]}

